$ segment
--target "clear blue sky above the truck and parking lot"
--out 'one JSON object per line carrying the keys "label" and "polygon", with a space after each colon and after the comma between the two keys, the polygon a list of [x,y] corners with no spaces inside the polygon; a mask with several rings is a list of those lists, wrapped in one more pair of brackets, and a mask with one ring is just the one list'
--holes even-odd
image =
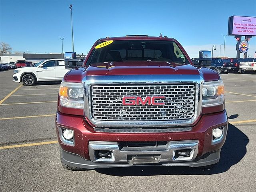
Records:
{"label": "clear blue sky above the truck and parking lot", "polygon": [[[0,41],[13,52],[60,53],[72,50],[69,4],[73,5],[74,49],[86,54],[99,38],[147,34],[176,38],[190,57],[199,49],[220,55],[228,17],[256,16],[255,0],[0,0]],[[256,37],[249,41],[254,55]],[[225,56],[236,57],[236,40],[226,36]],[[221,50],[223,56],[223,46]],[[242,56],[242,54],[241,54]]]}

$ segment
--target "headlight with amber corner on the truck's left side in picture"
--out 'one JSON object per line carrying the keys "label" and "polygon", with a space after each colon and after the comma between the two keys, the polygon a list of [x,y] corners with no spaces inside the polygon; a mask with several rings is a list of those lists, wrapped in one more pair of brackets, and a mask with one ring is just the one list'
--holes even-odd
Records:
{"label": "headlight with amber corner on the truck's left side in picture", "polygon": [[84,108],[84,91],[82,83],[61,82],[60,105],[70,108]]}

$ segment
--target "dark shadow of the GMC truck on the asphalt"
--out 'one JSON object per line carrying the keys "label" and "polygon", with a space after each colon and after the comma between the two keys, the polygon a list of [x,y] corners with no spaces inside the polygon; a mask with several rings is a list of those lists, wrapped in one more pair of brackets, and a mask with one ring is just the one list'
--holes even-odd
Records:
{"label": "dark shadow of the GMC truck on the asphalt", "polygon": [[226,142],[222,147],[220,162],[212,169],[176,166],[134,166],[127,168],[98,168],[97,172],[112,176],[152,175],[212,175],[228,171],[245,156],[249,138],[232,124],[228,124]]}

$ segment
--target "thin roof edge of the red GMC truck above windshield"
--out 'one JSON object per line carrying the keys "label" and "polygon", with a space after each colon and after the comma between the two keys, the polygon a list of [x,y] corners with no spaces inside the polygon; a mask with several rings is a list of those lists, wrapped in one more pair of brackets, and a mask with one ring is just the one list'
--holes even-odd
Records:
{"label": "thin roof edge of the red GMC truck above windshield", "polygon": [[110,41],[110,40],[169,40],[169,41],[176,41],[174,38],[164,37],[154,37],[154,36],[147,36],[147,35],[126,35],[124,37],[106,37],[102,38],[99,41]]}

